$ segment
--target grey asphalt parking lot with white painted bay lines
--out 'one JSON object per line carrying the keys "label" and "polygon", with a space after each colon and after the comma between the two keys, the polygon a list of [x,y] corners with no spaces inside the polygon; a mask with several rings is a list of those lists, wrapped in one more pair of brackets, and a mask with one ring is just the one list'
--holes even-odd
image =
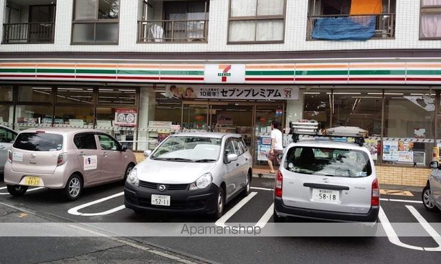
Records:
{"label": "grey asphalt parking lot with white painted bay lines", "polygon": [[[252,194],[227,204],[225,217],[218,221],[200,215],[135,214],[123,207],[123,183],[85,189],[72,202],[56,190],[36,188],[12,197],[0,183],[0,222],[265,225],[272,223],[273,181],[254,178]],[[415,223],[421,232],[427,227],[424,221],[441,222],[441,213],[424,210],[418,188],[387,187],[380,220]],[[389,235],[390,230],[380,237],[1,237],[0,263],[440,263],[439,234],[398,237],[398,242]]]}

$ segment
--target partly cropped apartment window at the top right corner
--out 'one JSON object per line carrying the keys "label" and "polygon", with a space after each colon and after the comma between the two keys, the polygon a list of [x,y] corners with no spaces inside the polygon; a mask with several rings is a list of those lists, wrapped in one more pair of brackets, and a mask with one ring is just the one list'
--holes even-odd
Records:
{"label": "partly cropped apartment window at the top right corner", "polygon": [[421,0],[420,39],[441,39],[441,0]]}

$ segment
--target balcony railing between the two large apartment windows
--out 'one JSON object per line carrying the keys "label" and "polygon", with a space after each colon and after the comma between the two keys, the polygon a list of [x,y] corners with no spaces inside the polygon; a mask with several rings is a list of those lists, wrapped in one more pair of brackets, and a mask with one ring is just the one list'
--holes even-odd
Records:
{"label": "balcony railing between the two large apartment windows", "polygon": [[207,26],[207,20],[138,21],[138,42],[206,42]]}

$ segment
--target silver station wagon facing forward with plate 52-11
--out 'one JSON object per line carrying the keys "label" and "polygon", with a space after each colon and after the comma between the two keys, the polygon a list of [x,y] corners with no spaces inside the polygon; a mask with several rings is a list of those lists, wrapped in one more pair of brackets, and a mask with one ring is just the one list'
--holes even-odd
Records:
{"label": "silver station wagon facing forward with plate 52-11", "polygon": [[252,156],[238,134],[174,134],[145,155],[125,183],[125,207],[135,212],[201,212],[219,218],[225,203],[249,193]]}

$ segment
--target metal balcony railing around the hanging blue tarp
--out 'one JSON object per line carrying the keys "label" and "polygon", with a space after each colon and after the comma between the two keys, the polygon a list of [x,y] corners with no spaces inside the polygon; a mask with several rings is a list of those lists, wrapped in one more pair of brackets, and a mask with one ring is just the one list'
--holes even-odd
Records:
{"label": "metal balcony railing around the hanging blue tarp", "polygon": [[314,40],[313,32],[318,19],[325,18],[351,18],[360,24],[366,24],[368,19],[375,17],[375,34],[373,39],[391,39],[395,37],[395,14],[363,14],[351,16],[349,14],[340,15],[322,15],[308,17],[307,40]]}

